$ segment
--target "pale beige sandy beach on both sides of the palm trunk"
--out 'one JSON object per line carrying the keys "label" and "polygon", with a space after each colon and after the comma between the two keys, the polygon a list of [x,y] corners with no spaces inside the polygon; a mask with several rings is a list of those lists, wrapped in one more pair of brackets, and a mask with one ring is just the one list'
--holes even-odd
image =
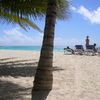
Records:
{"label": "pale beige sandy beach on both sides of the palm trunk", "polygon": [[[0,100],[31,100],[36,51],[0,50]],[[54,53],[53,90],[46,100],[100,100],[100,56]]]}

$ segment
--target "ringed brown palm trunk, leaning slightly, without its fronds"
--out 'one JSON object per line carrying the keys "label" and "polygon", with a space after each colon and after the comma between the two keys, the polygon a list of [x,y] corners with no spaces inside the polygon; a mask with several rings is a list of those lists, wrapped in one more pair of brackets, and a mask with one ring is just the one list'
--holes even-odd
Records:
{"label": "ringed brown palm trunk, leaning slightly, without its fronds", "polygon": [[53,46],[57,0],[48,0],[43,44],[33,90],[51,90],[53,83]]}

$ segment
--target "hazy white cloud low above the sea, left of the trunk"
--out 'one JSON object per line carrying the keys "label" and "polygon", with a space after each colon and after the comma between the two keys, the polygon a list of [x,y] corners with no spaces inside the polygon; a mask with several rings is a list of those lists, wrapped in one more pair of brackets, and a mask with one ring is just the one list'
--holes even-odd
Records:
{"label": "hazy white cloud low above the sea, left of the trunk", "polygon": [[4,31],[0,37],[0,45],[41,45],[42,35],[27,36],[20,32],[20,28],[14,28]]}

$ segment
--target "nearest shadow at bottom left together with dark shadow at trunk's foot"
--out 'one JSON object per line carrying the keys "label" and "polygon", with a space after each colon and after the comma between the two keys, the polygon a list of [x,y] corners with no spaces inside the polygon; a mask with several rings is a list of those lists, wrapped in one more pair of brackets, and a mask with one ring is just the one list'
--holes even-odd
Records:
{"label": "nearest shadow at bottom left together with dark shadow at trunk's foot", "polygon": [[34,91],[9,81],[0,80],[0,100],[46,100],[50,91]]}

